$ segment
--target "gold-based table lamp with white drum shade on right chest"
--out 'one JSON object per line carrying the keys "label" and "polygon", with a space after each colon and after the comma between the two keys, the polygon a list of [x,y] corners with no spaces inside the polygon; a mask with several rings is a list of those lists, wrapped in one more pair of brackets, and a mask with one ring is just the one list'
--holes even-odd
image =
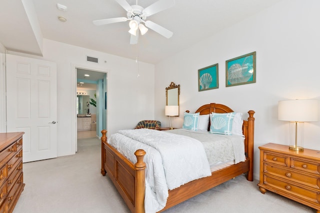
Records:
{"label": "gold-based table lamp with white drum shade on right chest", "polygon": [[278,120],[290,122],[289,149],[303,151],[303,122],[318,120],[318,100],[279,101]]}

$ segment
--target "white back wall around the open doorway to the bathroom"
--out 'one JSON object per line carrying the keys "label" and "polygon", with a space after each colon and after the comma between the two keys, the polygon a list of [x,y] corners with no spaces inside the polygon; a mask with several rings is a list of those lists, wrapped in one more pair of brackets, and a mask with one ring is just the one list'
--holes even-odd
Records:
{"label": "white back wall around the open doorway to the bathroom", "polygon": [[[47,39],[43,40],[43,57],[10,54],[57,63],[58,156],[74,154],[75,150],[75,67],[107,72],[108,135],[119,129],[133,129],[142,119],[154,118],[154,65],[139,62],[137,78],[135,56],[127,59]],[[97,57],[99,63],[87,62],[87,55]]]}

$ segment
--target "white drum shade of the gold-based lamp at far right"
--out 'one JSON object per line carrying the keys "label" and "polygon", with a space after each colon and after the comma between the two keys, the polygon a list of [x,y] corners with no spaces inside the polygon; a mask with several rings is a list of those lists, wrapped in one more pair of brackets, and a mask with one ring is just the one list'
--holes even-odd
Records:
{"label": "white drum shade of the gold-based lamp at far right", "polygon": [[318,100],[285,100],[278,103],[278,120],[317,121]]}

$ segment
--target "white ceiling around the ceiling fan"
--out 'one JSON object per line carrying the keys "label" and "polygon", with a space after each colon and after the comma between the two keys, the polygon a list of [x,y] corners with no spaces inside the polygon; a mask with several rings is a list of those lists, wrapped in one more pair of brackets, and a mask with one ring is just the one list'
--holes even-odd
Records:
{"label": "white ceiling around the ceiling fan", "polygon": [[[280,0],[175,0],[169,9],[147,17],[173,32],[169,39],[148,30],[129,44],[128,21],[96,26],[96,19],[126,17],[114,0],[5,0],[0,3],[0,43],[8,50],[41,55],[36,28],[24,8],[32,3],[42,37],[140,61],[157,63]],[[127,0],[132,5],[136,0]],[[138,0],[147,7],[156,0]],[[67,6],[60,11],[56,3]],[[66,22],[58,20],[63,16]],[[246,30],[246,29],[243,29]]]}

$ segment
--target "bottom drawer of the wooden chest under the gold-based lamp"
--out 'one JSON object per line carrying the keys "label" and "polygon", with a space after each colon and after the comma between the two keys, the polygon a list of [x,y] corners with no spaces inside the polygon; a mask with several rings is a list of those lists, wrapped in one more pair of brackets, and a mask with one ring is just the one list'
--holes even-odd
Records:
{"label": "bottom drawer of the wooden chest under the gold-based lamp", "polygon": [[[272,178],[267,175],[264,176],[264,181],[266,185],[269,185],[275,189],[278,189],[279,191],[288,193],[290,195],[296,196],[297,198],[301,198],[312,203],[319,204],[318,199],[320,194],[316,191],[308,190],[306,188],[302,188],[294,184],[286,183],[284,181]],[[276,191],[277,190],[275,190],[275,192]]]}

